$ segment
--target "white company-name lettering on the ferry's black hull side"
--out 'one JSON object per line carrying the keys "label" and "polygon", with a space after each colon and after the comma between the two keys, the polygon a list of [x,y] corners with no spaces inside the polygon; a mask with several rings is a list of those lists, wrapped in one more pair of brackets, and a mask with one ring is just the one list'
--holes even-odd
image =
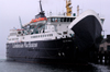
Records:
{"label": "white company-name lettering on the ferry's black hull side", "polygon": [[12,48],[33,48],[37,47],[37,43],[13,44]]}

